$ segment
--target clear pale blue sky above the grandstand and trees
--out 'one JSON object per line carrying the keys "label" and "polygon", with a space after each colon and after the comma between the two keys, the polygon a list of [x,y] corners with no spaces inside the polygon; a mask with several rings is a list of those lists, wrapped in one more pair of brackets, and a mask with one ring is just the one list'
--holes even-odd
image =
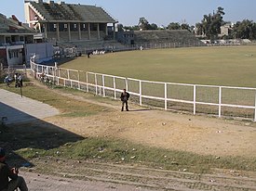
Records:
{"label": "clear pale blue sky above the grandstand and trees", "polygon": [[[48,0],[44,0],[48,2]],[[256,0],[62,0],[69,4],[96,5],[103,7],[114,19],[124,26],[137,25],[144,17],[158,26],[168,26],[170,22],[195,25],[204,15],[224,8],[224,21],[256,22]],[[55,0],[59,2],[59,0]],[[0,0],[0,13],[10,17],[16,15],[25,22],[24,0]]]}

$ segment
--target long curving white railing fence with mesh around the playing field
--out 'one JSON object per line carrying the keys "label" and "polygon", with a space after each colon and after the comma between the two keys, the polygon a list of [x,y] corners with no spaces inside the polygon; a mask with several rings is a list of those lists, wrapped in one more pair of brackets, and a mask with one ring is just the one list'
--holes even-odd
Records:
{"label": "long curving white railing fence with mesh around the playing field", "polygon": [[256,121],[256,88],[142,81],[33,62],[31,70],[34,77],[44,73],[58,85],[99,96],[117,99],[126,88],[140,105]]}

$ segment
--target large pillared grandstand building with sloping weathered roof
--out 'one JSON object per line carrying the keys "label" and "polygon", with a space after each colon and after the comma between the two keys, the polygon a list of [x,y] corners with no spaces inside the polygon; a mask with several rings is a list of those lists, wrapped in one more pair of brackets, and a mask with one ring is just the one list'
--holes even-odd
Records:
{"label": "large pillared grandstand building with sloping weathered roof", "polygon": [[103,40],[109,35],[108,24],[113,24],[115,30],[117,22],[99,6],[43,0],[25,1],[25,17],[48,42]]}

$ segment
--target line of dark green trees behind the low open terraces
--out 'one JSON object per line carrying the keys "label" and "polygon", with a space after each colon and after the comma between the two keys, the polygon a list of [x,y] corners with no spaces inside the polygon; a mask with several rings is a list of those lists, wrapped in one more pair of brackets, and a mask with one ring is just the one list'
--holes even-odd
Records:
{"label": "line of dark green trees behind the low open terraces", "polygon": [[[123,26],[118,25],[119,31],[146,31],[146,30],[187,30],[194,32],[195,35],[205,39],[250,39],[256,40],[256,23],[253,20],[244,19],[231,23],[223,20],[225,15],[224,8],[219,6],[216,11],[204,15],[200,22],[195,23],[195,26],[190,26],[187,23],[170,22],[167,27],[158,27],[155,23],[150,23],[145,18],[140,18],[138,25]],[[220,35],[221,27],[228,26],[228,35]]]}

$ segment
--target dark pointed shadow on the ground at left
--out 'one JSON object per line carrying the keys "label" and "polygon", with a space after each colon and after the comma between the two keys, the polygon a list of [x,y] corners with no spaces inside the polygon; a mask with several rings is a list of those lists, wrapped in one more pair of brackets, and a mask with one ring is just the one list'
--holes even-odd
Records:
{"label": "dark pointed shadow on the ground at left", "polygon": [[17,150],[27,150],[30,155],[33,153],[32,157],[36,157],[38,149],[49,150],[85,139],[3,103],[0,103],[0,107],[5,108],[0,108],[0,120],[4,116],[19,116],[17,119],[7,119],[7,124],[0,124],[0,146],[7,150],[7,163],[10,166],[34,166],[29,160],[17,155]]}

